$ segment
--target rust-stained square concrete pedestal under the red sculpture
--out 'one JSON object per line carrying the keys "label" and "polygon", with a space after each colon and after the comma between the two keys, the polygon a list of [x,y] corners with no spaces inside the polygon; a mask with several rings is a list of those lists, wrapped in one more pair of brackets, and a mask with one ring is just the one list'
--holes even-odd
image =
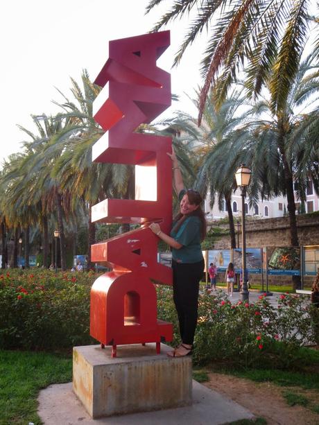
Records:
{"label": "rust-stained square concrete pedestal under the red sculpture", "polygon": [[155,343],[74,347],[73,390],[89,415],[103,416],[176,408],[191,404],[191,358],[170,358],[171,347]]}

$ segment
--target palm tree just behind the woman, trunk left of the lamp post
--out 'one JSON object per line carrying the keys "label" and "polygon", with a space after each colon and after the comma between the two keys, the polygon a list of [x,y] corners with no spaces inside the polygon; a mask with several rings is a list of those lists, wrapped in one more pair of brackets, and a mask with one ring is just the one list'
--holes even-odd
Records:
{"label": "palm tree just behind the woman, trunk left of the lamp post", "polygon": [[[198,92],[198,99],[200,94]],[[198,106],[199,101],[194,101]],[[243,111],[243,112],[242,112]],[[239,139],[239,131],[248,112],[247,105],[241,96],[241,92],[234,91],[227,98],[221,109],[216,112],[214,98],[211,94],[207,98],[202,122],[198,127],[196,119],[188,114],[179,113],[173,121],[171,128],[181,132],[180,143],[184,142],[184,148],[191,152],[191,157],[196,158],[193,166],[196,171],[196,188],[205,198],[209,194],[210,205],[213,207],[217,195],[218,205],[225,199],[227,214],[230,223],[231,248],[236,248],[234,230],[234,218],[232,214],[232,192],[236,189],[234,174],[240,164],[238,155],[224,148],[225,141],[236,135]],[[241,134],[243,137],[243,134]]]}

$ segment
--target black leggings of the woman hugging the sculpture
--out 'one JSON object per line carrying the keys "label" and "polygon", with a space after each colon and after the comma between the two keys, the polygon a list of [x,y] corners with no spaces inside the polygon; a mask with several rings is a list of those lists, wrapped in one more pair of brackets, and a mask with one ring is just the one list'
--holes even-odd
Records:
{"label": "black leggings of the woman hugging the sculpture", "polygon": [[187,345],[193,344],[198,318],[198,291],[204,272],[204,260],[198,263],[172,261],[173,299],[180,323],[180,338]]}

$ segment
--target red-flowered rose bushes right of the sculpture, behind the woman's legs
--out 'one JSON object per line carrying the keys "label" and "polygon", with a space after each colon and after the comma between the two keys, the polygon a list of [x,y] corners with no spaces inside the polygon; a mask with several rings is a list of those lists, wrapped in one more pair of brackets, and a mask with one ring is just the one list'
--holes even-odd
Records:
{"label": "red-flowered rose bushes right of the sculpture, behind the woman's legs", "polygon": [[[174,323],[173,343],[177,344],[180,341],[171,289],[160,290],[158,297],[158,315]],[[274,309],[264,295],[255,304],[231,304],[221,291],[216,295],[202,293],[193,360],[198,364],[231,361],[243,367],[297,365],[298,347],[314,340],[311,306],[306,299],[284,295],[279,309]]]}

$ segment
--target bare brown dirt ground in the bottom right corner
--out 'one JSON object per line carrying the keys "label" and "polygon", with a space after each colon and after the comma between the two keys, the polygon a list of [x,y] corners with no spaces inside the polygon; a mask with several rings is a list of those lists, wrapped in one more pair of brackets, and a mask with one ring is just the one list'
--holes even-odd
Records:
{"label": "bare brown dirt ground in the bottom right corner", "polygon": [[[268,425],[319,425],[319,414],[302,406],[288,406],[282,396],[284,390],[298,392],[298,388],[255,383],[218,373],[210,373],[209,381],[202,384],[248,408],[256,417],[264,417]],[[300,392],[318,404],[318,392],[304,389]]]}

